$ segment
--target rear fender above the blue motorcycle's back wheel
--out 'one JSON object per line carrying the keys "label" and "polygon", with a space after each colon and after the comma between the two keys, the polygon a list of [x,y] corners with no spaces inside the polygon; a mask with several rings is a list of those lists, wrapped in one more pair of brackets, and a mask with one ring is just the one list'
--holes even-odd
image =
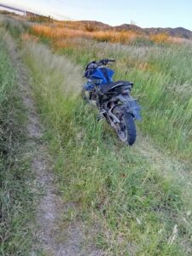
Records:
{"label": "rear fender above the blue motorcycle's back wheel", "polygon": [[141,120],[141,107],[137,104],[137,100],[131,95],[119,95],[117,96],[120,102],[122,102],[127,108],[127,110],[133,115],[137,120]]}

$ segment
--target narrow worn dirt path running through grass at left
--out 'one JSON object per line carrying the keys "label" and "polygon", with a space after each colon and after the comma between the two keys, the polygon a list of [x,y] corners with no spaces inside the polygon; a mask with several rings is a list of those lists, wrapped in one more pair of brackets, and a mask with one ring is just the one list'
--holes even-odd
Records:
{"label": "narrow worn dirt path running through grass at left", "polygon": [[5,37],[9,55],[18,73],[20,94],[27,110],[27,137],[29,154],[32,156],[32,172],[37,177],[38,184],[43,189],[43,196],[38,203],[37,224],[35,234],[36,244],[32,255],[39,252],[51,256],[73,255],[103,255],[89,242],[83,234],[81,223],[73,223],[67,228],[61,227],[61,220],[65,212],[75,207],[73,204],[64,204],[55,185],[53,165],[49,157],[48,148],[42,137],[44,128],[41,125],[35,103],[32,99],[30,76],[22,64],[20,51],[9,35]]}

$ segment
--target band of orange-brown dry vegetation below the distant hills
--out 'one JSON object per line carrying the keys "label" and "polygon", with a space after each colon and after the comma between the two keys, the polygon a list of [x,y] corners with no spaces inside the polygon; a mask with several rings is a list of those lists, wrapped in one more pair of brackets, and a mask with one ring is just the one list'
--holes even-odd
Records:
{"label": "band of orange-brown dry vegetation below the distant hills", "polygon": [[148,44],[179,44],[181,38],[172,38],[166,32],[154,33],[150,36],[137,31],[117,31],[107,25],[95,25],[94,22],[81,21],[55,21],[53,23],[36,24],[32,26],[32,34],[36,37],[49,38],[55,49],[67,48],[67,40],[73,38],[85,38],[97,42],[109,42],[119,44],[131,44],[144,40]]}

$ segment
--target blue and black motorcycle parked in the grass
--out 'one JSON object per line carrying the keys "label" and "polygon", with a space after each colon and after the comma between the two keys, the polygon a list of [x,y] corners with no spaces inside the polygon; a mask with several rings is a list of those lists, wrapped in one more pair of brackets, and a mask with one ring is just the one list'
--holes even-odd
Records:
{"label": "blue and black motorcycle parked in the grass", "polygon": [[88,79],[82,90],[83,99],[99,109],[99,119],[105,118],[123,143],[133,145],[137,131],[135,119],[140,120],[140,106],[131,96],[133,83],[113,82],[113,70],[106,67],[114,60],[91,61],[84,71]]}

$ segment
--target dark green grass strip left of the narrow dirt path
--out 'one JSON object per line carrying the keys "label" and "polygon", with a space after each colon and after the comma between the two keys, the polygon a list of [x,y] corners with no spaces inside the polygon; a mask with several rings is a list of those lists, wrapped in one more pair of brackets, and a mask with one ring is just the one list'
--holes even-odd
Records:
{"label": "dark green grass strip left of the narrow dirt path", "polygon": [[34,188],[26,150],[26,113],[16,71],[0,29],[0,254],[27,255],[32,246]]}

